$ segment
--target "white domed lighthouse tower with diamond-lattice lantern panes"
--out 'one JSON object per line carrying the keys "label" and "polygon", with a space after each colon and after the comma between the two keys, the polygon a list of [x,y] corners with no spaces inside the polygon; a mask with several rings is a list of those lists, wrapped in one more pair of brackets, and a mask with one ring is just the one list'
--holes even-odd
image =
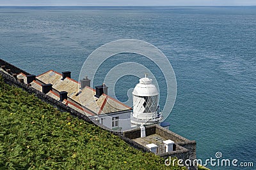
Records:
{"label": "white domed lighthouse tower with diamond-lattice lantern panes", "polygon": [[152,79],[140,79],[140,83],[136,85],[132,92],[133,111],[131,115],[131,123],[134,125],[152,125],[159,124],[163,119],[158,106],[159,92]]}

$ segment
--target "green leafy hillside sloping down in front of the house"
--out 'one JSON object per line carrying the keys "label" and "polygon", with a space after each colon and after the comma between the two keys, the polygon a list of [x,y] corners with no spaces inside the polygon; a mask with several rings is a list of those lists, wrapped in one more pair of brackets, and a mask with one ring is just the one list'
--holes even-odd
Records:
{"label": "green leafy hillside sloping down in front of the house", "polygon": [[182,169],[1,79],[0,169],[28,168]]}

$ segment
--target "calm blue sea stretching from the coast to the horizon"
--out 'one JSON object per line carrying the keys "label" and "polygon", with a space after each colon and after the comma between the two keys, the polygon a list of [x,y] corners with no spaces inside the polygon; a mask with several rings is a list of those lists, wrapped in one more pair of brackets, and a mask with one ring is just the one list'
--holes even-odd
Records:
{"label": "calm blue sea stretching from the coast to the horizon", "polygon": [[[172,63],[177,99],[167,120],[172,131],[197,141],[198,158],[221,152],[256,166],[256,7],[0,8],[1,59],[33,74],[68,70],[77,80],[93,50],[125,38],[152,43]],[[147,59],[117,55],[104,62],[97,82],[124,60],[150,67],[163,81]],[[120,101],[136,81],[118,80]]]}

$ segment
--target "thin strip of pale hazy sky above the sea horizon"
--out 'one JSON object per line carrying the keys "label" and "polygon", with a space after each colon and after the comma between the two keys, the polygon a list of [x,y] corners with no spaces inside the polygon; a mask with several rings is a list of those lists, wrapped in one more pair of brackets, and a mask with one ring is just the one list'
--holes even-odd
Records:
{"label": "thin strip of pale hazy sky above the sea horizon", "polygon": [[150,6],[223,5],[250,6],[256,0],[0,0],[0,6]]}

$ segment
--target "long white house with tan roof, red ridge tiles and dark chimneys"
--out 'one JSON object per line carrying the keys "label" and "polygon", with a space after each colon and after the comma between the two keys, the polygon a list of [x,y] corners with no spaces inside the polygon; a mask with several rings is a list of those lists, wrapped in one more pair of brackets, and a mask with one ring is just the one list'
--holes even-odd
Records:
{"label": "long white house with tan roof, red ridge tiles and dark chimneys", "polygon": [[61,74],[50,70],[39,76],[20,73],[17,78],[23,79],[24,83],[34,89],[83,113],[109,129],[114,131],[131,129],[131,108],[108,96],[108,87],[104,84],[92,89],[88,78],[84,78],[79,83],[71,78],[69,71]]}

